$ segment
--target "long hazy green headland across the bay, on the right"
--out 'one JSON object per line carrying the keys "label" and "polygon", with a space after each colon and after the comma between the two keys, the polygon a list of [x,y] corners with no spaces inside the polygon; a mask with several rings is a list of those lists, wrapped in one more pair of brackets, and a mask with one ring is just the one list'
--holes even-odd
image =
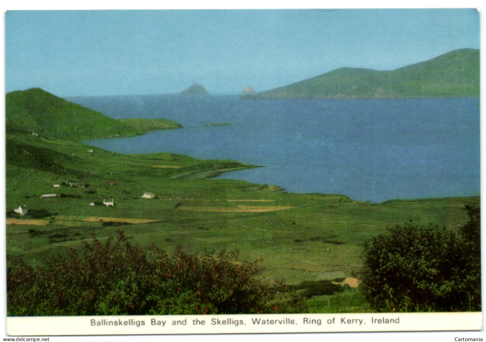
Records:
{"label": "long hazy green headland across the bay, on the right", "polygon": [[242,98],[400,99],[478,96],[479,50],[462,49],[391,71],[339,68],[291,85],[243,95]]}

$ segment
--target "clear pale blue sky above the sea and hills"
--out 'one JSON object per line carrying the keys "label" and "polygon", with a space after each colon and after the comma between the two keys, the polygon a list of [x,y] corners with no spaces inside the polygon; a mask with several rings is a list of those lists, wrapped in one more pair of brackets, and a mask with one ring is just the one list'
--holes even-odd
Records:
{"label": "clear pale blue sky above the sea and hills", "polygon": [[5,90],[58,96],[267,90],[341,68],[479,49],[474,9],[10,11]]}

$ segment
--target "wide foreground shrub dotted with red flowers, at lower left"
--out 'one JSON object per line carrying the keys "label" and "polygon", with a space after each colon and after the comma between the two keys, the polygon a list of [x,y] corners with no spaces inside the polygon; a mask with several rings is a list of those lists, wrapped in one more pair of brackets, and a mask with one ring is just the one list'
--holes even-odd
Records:
{"label": "wide foreground shrub dotted with red flowers, at lower left", "polygon": [[303,299],[283,283],[261,280],[258,262],[238,252],[173,256],[155,246],[132,246],[123,233],[102,244],[93,237],[81,253],[49,259],[33,269],[8,257],[10,316],[291,313]]}

